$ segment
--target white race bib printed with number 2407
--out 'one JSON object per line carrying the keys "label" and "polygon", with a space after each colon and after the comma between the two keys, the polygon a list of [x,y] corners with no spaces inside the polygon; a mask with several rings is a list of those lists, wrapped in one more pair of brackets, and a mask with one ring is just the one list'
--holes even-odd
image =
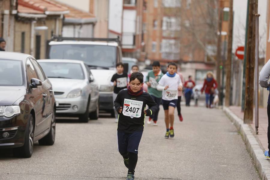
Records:
{"label": "white race bib printed with number 2407", "polygon": [[124,99],[123,115],[131,118],[140,118],[143,109],[143,101]]}

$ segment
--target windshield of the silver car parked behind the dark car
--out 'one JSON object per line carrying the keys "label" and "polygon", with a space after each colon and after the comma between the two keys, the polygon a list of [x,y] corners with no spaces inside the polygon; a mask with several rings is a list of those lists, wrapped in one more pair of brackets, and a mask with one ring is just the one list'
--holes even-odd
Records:
{"label": "windshield of the silver car parked behind the dark car", "polygon": [[48,78],[84,79],[81,64],[63,62],[39,62]]}

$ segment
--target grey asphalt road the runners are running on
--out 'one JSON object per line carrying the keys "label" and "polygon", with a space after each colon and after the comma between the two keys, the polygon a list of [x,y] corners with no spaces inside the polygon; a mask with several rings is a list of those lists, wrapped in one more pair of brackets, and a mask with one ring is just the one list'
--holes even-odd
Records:
{"label": "grey asphalt road the runners are running on", "polygon": [[[259,180],[241,135],[221,110],[183,106],[182,114],[174,139],[164,138],[163,110],[158,126],[145,125],[136,180]],[[0,179],[125,179],[116,128],[104,115],[88,123],[58,120],[55,144],[35,143],[32,158],[0,150]]]}

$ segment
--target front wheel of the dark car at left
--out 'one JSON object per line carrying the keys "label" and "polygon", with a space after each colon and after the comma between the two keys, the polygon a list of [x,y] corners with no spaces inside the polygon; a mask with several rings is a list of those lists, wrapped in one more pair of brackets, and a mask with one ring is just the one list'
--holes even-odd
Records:
{"label": "front wheel of the dark car at left", "polygon": [[29,120],[26,124],[24,144],[22,147],[13,149],[13,154],[19,158],[30,158],[33,153],[33,134],[34,134],[34,118],[29,115]]}

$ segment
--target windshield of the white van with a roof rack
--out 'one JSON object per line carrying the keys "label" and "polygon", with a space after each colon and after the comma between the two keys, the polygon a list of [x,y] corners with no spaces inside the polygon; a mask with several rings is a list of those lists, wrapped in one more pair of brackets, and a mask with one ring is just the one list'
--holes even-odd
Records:
{"label": "windshield of the white van with a roof rack", "polygon": [[89,44],[51,45],[48,58],[81,60],[88,66],[109,68],[116,65],[116,47]]}

